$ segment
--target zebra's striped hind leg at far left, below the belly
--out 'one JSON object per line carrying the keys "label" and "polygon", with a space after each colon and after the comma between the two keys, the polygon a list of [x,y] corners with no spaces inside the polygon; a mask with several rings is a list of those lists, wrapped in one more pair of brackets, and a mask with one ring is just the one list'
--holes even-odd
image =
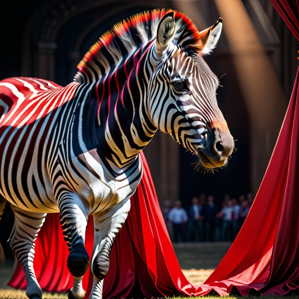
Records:
{"label": "zebra's striped hind leg at far left, below the belly", "polygon": [[42,289],[39,286],[34,269],[35,240],[47,214],[33,213],[21,210],[12,205],[15,223],[8,240],[15,257],[21,263],[27,281],[26,295],[30,299],[42,299]]}

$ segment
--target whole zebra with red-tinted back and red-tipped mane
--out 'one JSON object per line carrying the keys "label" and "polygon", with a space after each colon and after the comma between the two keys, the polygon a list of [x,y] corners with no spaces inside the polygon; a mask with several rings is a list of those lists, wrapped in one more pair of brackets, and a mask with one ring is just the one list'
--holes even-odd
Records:
{"label": "whole zebra with red-tinted back and red-tipped mane", "polygon": [[140,152],[158,129],[199,156],[204,170],[226,165],[234,141],[216,100],[219,80],[203,59],[221,29],[221,18],[199,32],[180,12],[143,12],[103,34],[65,87],[31,77],[0,81],[0,216],[8,201],[15,216],[8,242],[30,299],[42,298],[33,260],[47,213],[60,214],[70,250],[68,297],[84,298],[91,263],[90,298],[102,298],[113,241],[142,177]]}

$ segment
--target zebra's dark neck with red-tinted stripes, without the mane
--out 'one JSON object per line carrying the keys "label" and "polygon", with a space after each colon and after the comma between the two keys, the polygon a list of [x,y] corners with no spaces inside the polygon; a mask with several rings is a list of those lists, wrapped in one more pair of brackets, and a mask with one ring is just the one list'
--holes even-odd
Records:
{"label": "zebra's dark neck with red-tinted stripes, without the mane", "polygon": [[83,112],[88,119],[82,133],[88,132],[87,143],[96,141],[101,159],[112,169],[122,169],[134,161],[156,132],[147,107],[152,45],[149,42],[117,68],[107,69],[105,76],[88,84]]}

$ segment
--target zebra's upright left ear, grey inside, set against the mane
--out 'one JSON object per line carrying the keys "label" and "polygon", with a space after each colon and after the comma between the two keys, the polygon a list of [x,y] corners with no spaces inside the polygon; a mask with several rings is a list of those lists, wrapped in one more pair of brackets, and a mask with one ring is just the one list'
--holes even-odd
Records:
{"label": "zebra's upright left ear, grey inside, set against the mane", "polygon": [[162,56],[175,35],[174,12],[171,11],[161,19],[156,35],[156,53]]}

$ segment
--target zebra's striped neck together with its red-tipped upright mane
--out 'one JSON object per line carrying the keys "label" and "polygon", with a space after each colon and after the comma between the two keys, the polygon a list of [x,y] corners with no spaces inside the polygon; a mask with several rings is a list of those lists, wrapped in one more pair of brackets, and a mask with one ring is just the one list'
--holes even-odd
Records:
{"label": "zebra's striped neck together with its red-tipped upright mane", "polygon": [[[154,9],[114,25],[77,66],[74,81],[83,88],[91,86],[88,95],[79,97],[79,102],[84,97],[89,99],[84,108],[87,113],[83,114],[88,120],[78,125],[81,139],[88,135],[89,146],[85,149],[93,149],[98,143],[99,153],[119,168],[133,161],[156,131],[145,100],[152,85],[151,75],[156,72],[151,65],[155,60],[152,45],[158,24],[167,12]],[[199,31],[185,15],[175,12],[175,25],[173,42],[177,47],[201,47]],[[79,136],[79,150],[81,139]]]}

